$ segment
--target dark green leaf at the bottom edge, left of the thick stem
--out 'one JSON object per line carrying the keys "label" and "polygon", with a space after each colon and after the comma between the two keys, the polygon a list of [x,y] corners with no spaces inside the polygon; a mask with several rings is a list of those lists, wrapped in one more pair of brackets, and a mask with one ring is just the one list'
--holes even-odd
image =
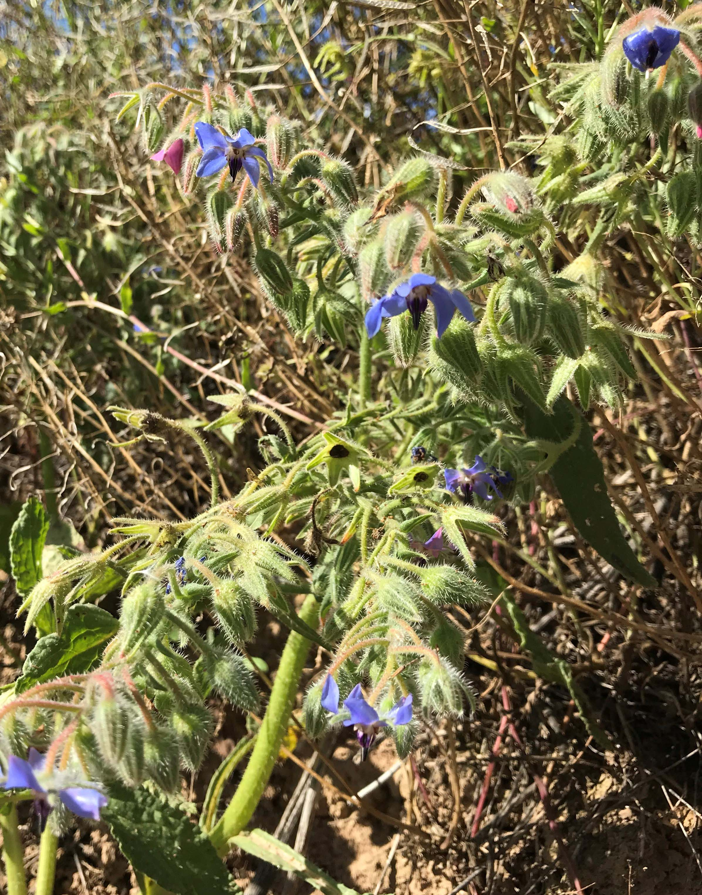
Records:
{"label": "dark green leaf at the bottom edge, left of the thick stem", "polygon": [[102,810],[135,871],[173,895],[233,895],[239,891],[207,835],[161,793],[110,787]]}

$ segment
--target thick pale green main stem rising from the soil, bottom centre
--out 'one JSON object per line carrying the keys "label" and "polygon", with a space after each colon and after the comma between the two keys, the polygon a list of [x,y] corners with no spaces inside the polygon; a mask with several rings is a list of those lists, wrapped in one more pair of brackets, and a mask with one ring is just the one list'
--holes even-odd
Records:
{"label": "thick pale green main stem rising from the soil, bottom centre", "polygon": [[[310,627],[317,626],[319,607],[314,595],[310,594],[300,609],[300,619]],[[300,684],[300,675],[307,659],[310,641],[292,631],[283,650],[280,665],[275,675],[266,715],[258,730],[258,739],[251,753],[239,788],[227,805],[224,814],[210,834],[210,840],[217,852],[224,856],[229,848],[229,840],[240,833],[251,819],[263,791],[270,779],[275,759],[278,757],[283,737],[288,729],[288,721]]]}

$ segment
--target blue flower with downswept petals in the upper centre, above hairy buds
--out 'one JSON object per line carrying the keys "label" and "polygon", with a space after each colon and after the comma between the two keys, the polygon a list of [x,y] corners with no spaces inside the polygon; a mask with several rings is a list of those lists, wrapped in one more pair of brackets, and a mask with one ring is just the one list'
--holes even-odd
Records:
{"label": "blue flower with downswept petals in the upper centre, above hairy buds", "polygon": [[475,320],[475,314],[469,300],[458,289],[447,289],[436,282],[436,277],[428,274],[412,274],[409,280],[389,295],[379,298],[366,314],[368,337],[373,338],[384,317],[396,317],[404,311],[410,311],[414,328],[419,329],[419,320],[427,310],[427,302],[436,309],[436,335],[441,338],[453,316],[458,310],[466,320]]}

